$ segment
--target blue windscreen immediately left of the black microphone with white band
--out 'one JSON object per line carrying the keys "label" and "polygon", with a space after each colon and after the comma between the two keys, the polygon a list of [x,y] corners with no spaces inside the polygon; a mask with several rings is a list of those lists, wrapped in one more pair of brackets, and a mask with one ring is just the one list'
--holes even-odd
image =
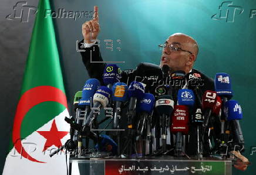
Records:
{"label": "blue windscreen immediately left of the black microphone with white band", "polygon": [[138,112],[147,112],[147,114],[152,114],[154,109],[154,95],[149,93],[144,93],[142,99],[140,100],[137,109]]}

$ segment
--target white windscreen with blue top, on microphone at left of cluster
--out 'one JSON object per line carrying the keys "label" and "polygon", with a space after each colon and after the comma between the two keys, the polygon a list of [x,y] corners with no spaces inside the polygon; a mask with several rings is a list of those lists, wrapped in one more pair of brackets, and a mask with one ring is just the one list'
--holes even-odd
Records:
{"label": "white windscreen with blue top, on microphone at left of cluster", "polygon": [[93,103],[100,102],[102,107],[105,108],[109,104],[110,96],[111,90],[105,86],[100,86],[95,95],[93,95]]}

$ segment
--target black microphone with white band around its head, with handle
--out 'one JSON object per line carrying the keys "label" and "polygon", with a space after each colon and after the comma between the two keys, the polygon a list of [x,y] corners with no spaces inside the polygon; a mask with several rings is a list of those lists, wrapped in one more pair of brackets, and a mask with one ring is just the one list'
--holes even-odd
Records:
{"label": "black microphone with white band around its head, with handle", "polygon": [[161,139],[163,152],[166,152],[167,127],[170,124],[170,115],[173,112],[174,101],[171,95],[162,95],[156,101],[156,110],[160,115]]}

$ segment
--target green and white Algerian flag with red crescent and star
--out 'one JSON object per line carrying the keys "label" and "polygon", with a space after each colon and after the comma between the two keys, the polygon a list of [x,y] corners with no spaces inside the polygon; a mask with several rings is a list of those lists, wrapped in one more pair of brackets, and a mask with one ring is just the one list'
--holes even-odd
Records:
{"label": "green and white Algerian flag with red crescent and star", "polygon": [[65,152],[50,157],[69,136],[69,116],[49,0],[38,5],[25,75],[3,174],[66,174]]}

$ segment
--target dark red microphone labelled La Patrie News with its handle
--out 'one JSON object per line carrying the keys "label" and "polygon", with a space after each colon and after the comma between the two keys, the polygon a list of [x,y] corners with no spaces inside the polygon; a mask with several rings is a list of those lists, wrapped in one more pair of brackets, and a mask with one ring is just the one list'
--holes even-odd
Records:
{"label": "dark red microphone labelled La Patrie News with its handle", "polygon": [[171,132],[176,134],[176,145],[174,155],[181,156],[183,146],[183,136],[188,134],[188,107],[185,105],[175,105],[173,115],[171,116]]}

